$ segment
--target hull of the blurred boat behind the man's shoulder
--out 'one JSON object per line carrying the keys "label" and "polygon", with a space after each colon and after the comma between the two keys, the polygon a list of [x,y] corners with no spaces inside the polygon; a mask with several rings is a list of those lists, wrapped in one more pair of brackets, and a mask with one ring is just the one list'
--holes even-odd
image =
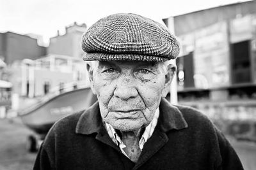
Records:
{"label": "hull of the blurred boat behind the man's shoulder", "polygon": [[49,101],[38,104],[33,110],[20,114],[22,122],[37,134],[46,134],[60,118],[77,111],[86,110],[97,101],[90,88],[72,90]]}

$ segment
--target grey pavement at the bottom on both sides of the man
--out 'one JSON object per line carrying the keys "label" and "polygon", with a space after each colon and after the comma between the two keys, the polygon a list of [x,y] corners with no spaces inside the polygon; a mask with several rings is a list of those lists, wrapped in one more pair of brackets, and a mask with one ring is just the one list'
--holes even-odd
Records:
{"label": "grey pavement at the bottom on both sides of the man", "polygon": [[[28,170],[33,168],[36,153],[26,150],[26,138],[33,134],[19,118],[0,119],[0,170]],[[228,138],[234,146],[245,170],[256,169],[256,143]]]}

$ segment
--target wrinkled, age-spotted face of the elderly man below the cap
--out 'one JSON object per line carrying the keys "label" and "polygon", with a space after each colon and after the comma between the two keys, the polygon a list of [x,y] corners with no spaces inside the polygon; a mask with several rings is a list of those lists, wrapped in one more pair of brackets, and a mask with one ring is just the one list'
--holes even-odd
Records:
{"label": "wrinkled, age-spotted face of the elderly man below the cap", "polygon": [[170,76],[162,62],[95,61],[88,68],[105,122],[134,131],[152,121]]}

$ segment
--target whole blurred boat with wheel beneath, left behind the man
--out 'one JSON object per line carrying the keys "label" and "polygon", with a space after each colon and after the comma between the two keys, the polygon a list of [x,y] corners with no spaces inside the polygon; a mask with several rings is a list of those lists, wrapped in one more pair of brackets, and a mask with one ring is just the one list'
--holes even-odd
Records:
{"label": "whole blurred boat with wheel beneath, left behind the man", "polygon": [[60,118],[86,110],[97,101],[90,87],[74,85],[72,88],[55,90],[42,97],[35,104],[19,111],[23,124],[35,134],[29,135],[26,148],[29,152],[38,150],[52,125]]}

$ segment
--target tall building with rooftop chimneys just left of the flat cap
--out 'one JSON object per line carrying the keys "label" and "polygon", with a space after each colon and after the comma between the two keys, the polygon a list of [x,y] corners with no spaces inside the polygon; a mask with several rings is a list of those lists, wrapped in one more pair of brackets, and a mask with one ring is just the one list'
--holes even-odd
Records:
{"label": "tall building with rooftop chimneys just left of the flat cap", "polygon": [[86,24],[78,25],[74,22],[73,25],[65,27],[65,34],[60,35],[60,31],[58,31],[58,35],[50,39],[48,53],[68,55],[81,59],[84,52],[80,43],[86,28]]}

